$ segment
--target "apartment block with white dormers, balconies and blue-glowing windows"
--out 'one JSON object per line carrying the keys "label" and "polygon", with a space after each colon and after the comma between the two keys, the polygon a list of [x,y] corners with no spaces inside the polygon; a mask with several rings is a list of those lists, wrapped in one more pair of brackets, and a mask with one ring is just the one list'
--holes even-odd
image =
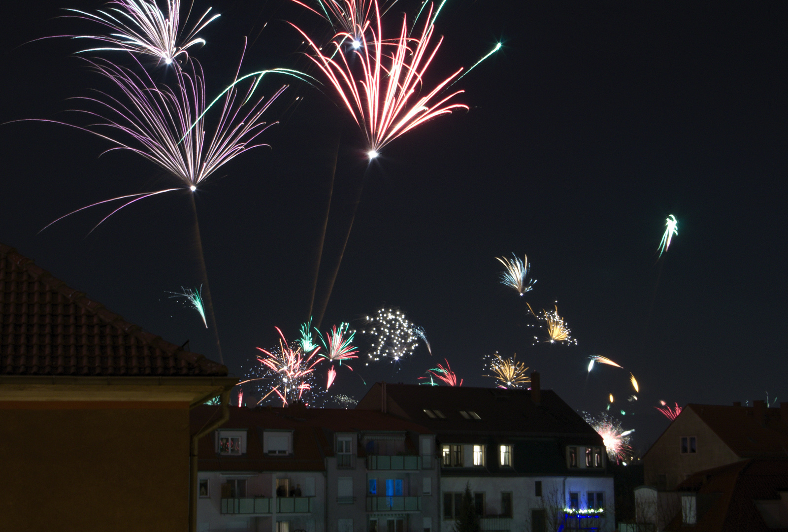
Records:
{"label": "apartment block with white dormers, balconies and blue-glowing windows", "polygon": [[[216,407],[192,411],[193,430]],[[236,407],[199,445],[198,530],[431,532],[434,435],[374,411]]]}

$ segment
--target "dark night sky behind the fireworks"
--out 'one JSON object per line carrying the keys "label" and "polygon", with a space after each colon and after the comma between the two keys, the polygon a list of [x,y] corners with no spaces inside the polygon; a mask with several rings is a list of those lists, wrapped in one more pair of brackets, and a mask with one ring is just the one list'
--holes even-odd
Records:
{"label": "dark night sky behind the fireworks", "polygon": [[[5,6],[0,122],[76,121],[68,99],[106,88],[72,55],[80,43],[28,43],[97,32],[56,17],[100,5]],[[195,11],[207,6],[222,16],[193,55],[210,94],[232,79],[244,35],[250,72],[309,68],[285,20],[328,33],[287,0],[198,0]],[[417,7],[400,0],[388,20]],[[336,392],[359,399],[362,377],[414,383],[444,357],[465,385],[490,386],[482,355],[516,352],[578,411],[599,413],[612,392],[638,452],[667,426],[659,400],[788,400],[785,20],[777,2],[449,0],[433,81],[498,40],[504,47],[455,85],[470,111],[395,140],[370,168],[323,323],[360,329],[364,315],[399,307],[426,330],[433,355],[422,346],[400,365],[355,363]],[[274,326],[295,339],[307,317],[337,140],[325,261],[336,259],[366,166],[362,134],[333,100],[286,78],[262,89],[283,83],[291,87],[268,115],[281,123],[263,137],[272,148],[236,158],[195,195],[221,350],[236,376],[255,347],[276,343]],[[173,181],[131,153],[99,158],[106,141],[61,125],[2,125],[0,147],[2,243],[128,321],[217,359],[213,331],[167,293],[201,282],[187,193],[135,204],[90,235],[109,210],[39,234],[71,210]],[[679,233],[657,262],[668,214]],[[528,254],[538,280],[525,298],[498,281],[495,258],[513,252]],[[528,326],[525,300],[534,309],[557,301],[578,344],[534,346],[541,332]],[[595,354],[626,369],[588,374]],[[634,405],[630,371],[641,386]]]}

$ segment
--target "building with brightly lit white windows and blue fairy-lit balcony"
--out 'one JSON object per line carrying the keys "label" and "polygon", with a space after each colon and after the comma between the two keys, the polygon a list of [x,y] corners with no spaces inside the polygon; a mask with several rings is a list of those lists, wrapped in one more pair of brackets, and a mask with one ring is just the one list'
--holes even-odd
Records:
{"label": "building with brightly lit white windows and blue fairy-lit balcony", "polygon": [[417,422],[437,437],[440,532],[466,485],[481,530],[615,529],[613,478],[600,435],[552,390],[377,383],[357,409]]}

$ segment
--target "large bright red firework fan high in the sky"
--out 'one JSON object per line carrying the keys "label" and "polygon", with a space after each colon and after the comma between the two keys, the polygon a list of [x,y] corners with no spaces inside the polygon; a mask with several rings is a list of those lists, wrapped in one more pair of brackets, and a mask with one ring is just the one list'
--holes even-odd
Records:
{"label": "large bright red firework fan high in the sky", "polygon": [[[373,0],[373,6],[375,17],[368,31],[370,39],[366,38],[367,32],[361,35],[362,46],[353,51],[356,61],[348,61],[344,54],[326,56],[321,47],[291,23],[307,39],[314,52],[308,57],[322,71],[355,123],[365,132],[367,157],[370,159],[376,158],[386,144],[418,125],[442,114],[452,113],[453,109],[468,109],[462,103],[448,103],[463,91],[437,98],[463,69],[458,69],[441,81],[425,96],[415,101],[411,99],[424,84],[429,65],[443,39],[439,39],[435,47],[429,49],[434,30],[429,22],[424,25],[418,39],[407,37],[405,17],[399,38],[385,39],[376,0]],[[430,8],[430,16],[431,13]],[[348,32],[339,33],[332,44],[339,50],[341,43],[351,38]]]}

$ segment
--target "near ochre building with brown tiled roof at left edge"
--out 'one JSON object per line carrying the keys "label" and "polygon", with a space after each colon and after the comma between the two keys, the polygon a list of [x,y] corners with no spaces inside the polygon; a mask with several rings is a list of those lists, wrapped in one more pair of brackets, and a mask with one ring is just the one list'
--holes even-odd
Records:
{"label": "near ochre building with brown tiled roof at left edge", "polygon": [[0,529],[185,532],[189,408],[236,381],[0,244]]}

